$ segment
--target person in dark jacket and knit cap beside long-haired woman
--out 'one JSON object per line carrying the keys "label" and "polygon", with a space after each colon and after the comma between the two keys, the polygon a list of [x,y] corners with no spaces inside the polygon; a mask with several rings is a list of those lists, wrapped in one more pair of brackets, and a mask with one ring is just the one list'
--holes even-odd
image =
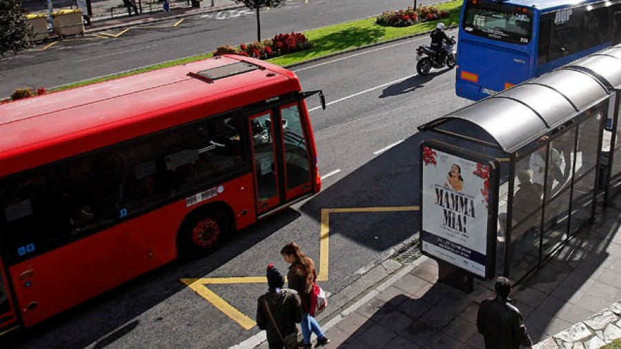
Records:
{"label": "person in dark jacket and knit cap beside long-haired woman", "polygon": [[[295,324],[302,321],[302,303],[299,301],[297,291],[282,289],[284,277],[273,264],[267,268],[267,279],[269,290],[259,297],[257,304],[257,325],[260,329],[266,330],[270,349],[282,349],[284,343],[281,337],[295,333],[297,343]],[[271,317],[266,306],[269,307]]]}

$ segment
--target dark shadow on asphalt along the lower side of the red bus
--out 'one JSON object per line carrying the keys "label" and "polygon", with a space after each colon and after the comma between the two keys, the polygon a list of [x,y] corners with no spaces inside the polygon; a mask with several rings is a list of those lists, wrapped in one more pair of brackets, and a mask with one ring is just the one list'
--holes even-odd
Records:
{"label": "dark shadow on asphalt along the lower side of the red bus", "polygon": [[[299,212],[293,209],[286,209],[279,215],[273,215],[250,228],[236,232],[230,239],[224,241],[219,250],[208,257],[190,262],[172,261],[166,266],[152,270],[29,328],[28,333],[15,338],[8,345],[10,348],[50,349],[110,346],[119,338],[140,328],[142,320],[136,319],[139,315],[161,306],[161,303],[181,290],[188,290],[180,279],[201,277],[224,266],[295,221],[299,215]],[[90,277],[96,278],[97,275]],[[199,298],[193,299],[189,306],[196,307],[197,301],[201,302]],[[199,304],[203,306],[203,303]],[[186,304],[180,307],[183,306]],[[178,314],[172,316],[176,317]],[[154,319],[154,321],[161,320],[161,318]],[[239,330],[244,331],[241,327]]]}

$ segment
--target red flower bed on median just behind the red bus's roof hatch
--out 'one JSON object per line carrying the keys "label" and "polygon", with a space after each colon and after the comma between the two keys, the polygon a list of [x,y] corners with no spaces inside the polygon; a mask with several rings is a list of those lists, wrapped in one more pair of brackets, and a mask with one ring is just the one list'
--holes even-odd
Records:
{"label": "red flower bed on median just behind the red bus's roof hatch", "polygon": [[268,59],[306,50],[311,47],[313,47],[313,43],[308,41],[304,34],[292,32],[290,34],[277,34],[273,39],[266,39],[264,41],[242,43],[239,45],[239,48],[230,45],[219,46],[214,55],[230,53],[258,59]]}

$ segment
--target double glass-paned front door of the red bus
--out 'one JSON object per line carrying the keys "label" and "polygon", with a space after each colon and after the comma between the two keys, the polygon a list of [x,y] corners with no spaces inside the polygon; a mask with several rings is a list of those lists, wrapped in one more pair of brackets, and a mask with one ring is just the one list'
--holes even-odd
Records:
{"label": "double glass-paned front door of the red bus", "polygon": [[313,163],[297,104],[251,117],[250,133],[259,215],[313,190]]}

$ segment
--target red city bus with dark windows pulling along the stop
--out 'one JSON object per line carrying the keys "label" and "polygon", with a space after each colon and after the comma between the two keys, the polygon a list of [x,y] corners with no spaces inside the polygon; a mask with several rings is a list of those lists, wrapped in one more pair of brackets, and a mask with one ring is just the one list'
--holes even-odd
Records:
{"label": "red city bus with dark windows pulling along the stop", "polygon": [[315,93],[225,55],[0,105],[0,335],[318,192]]}

